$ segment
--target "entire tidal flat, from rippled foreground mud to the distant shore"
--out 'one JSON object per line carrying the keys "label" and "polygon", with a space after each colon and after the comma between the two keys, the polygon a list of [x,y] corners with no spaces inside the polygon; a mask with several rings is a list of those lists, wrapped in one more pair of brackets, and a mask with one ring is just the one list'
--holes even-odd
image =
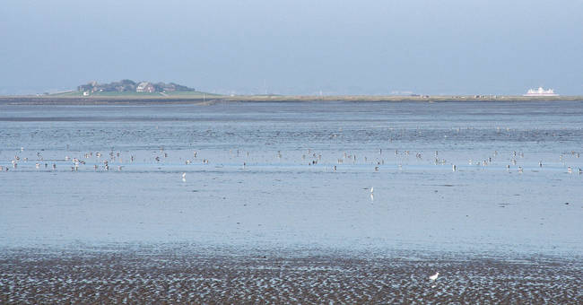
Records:
{"label": "entire tidal flat, from rippled foreground mud to the distant shore", "polygon": [[2,302],[583,298],[580,100],[4,103],[0,139]]}

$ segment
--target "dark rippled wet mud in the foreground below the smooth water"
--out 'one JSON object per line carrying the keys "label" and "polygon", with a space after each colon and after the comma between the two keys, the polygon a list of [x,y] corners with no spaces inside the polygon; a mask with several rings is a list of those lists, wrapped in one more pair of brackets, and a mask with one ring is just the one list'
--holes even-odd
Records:
{"label": "dark rippled wet mud in the foreground below the smooth water", "polygon": [[0,253],[3,304],[583,302],[583,264],[557,257],[176,248]]}

